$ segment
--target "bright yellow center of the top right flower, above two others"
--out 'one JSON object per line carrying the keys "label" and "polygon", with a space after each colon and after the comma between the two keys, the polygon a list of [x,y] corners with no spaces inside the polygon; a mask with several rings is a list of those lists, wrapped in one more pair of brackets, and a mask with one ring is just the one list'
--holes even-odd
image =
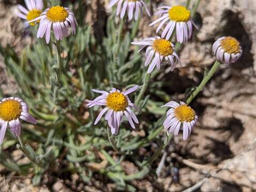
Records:
{"label": "bright yellow center of the top right flower, above two others", "polygon": [[190,11],[184,6],[172,6],[169,9],[169,18],[172,21],[186,22],[190,19]]}

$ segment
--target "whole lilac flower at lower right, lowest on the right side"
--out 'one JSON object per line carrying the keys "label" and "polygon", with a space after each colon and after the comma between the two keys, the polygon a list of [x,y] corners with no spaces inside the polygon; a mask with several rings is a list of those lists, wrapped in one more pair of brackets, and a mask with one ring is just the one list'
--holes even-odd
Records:
{"label": "whole lilac flower at lower right, lowest on the right side", "polygon": [[179,130],[183,130],[183,140],[187,140],[192,127],[197,122],[198,116],[195,115],[195,111],[186,105],[186,103],[179,101],[170,101],[162,107],[170,107],[167,111],[167,118],[163,122],[164,129],[167,129],[169,133],[178,135]]}

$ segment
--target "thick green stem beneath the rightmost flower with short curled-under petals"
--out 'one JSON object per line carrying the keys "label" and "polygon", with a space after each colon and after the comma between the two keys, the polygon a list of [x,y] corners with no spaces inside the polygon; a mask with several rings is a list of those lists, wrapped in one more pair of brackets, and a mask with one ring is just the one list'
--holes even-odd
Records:
{"label": "thick green stem beneath the rightmost flower with short curled-under petals", "polygon": [[194,92],[190,95],[189,98],[187,98],[186,103],[189,104],[197,94],[202,91],[202,89],[205,87],[206,83],[210,80],[210,78],[213,76],[215,71],[220,67],[221,63],[219,61],[215,61],[213,67],[210,69],[210,71],[207,73],[207,75],[202,79],[200,85],[197,87],[197,89],[194,90]]}

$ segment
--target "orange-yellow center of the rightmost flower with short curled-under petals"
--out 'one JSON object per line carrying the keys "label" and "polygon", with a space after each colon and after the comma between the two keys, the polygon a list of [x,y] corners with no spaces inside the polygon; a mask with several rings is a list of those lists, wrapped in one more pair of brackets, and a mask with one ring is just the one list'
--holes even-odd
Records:
{"label": "orange-yellow center of the rightmost flower with short curled-under petals", "polygon": [[225,37],[221,40],[222,49],[229,54],[240,53],[240,44],[234,37]]}

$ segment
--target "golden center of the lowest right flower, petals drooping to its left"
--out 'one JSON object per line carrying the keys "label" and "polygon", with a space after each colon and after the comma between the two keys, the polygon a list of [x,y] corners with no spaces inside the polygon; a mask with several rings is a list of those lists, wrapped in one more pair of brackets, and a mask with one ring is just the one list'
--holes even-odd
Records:
{"label": "golden center of the lowest right flower, petals drooping to its left", "polygon": [[191,122],[195,118],[195,111],[185,104],[176,107],[174,113],[180,122]]}

